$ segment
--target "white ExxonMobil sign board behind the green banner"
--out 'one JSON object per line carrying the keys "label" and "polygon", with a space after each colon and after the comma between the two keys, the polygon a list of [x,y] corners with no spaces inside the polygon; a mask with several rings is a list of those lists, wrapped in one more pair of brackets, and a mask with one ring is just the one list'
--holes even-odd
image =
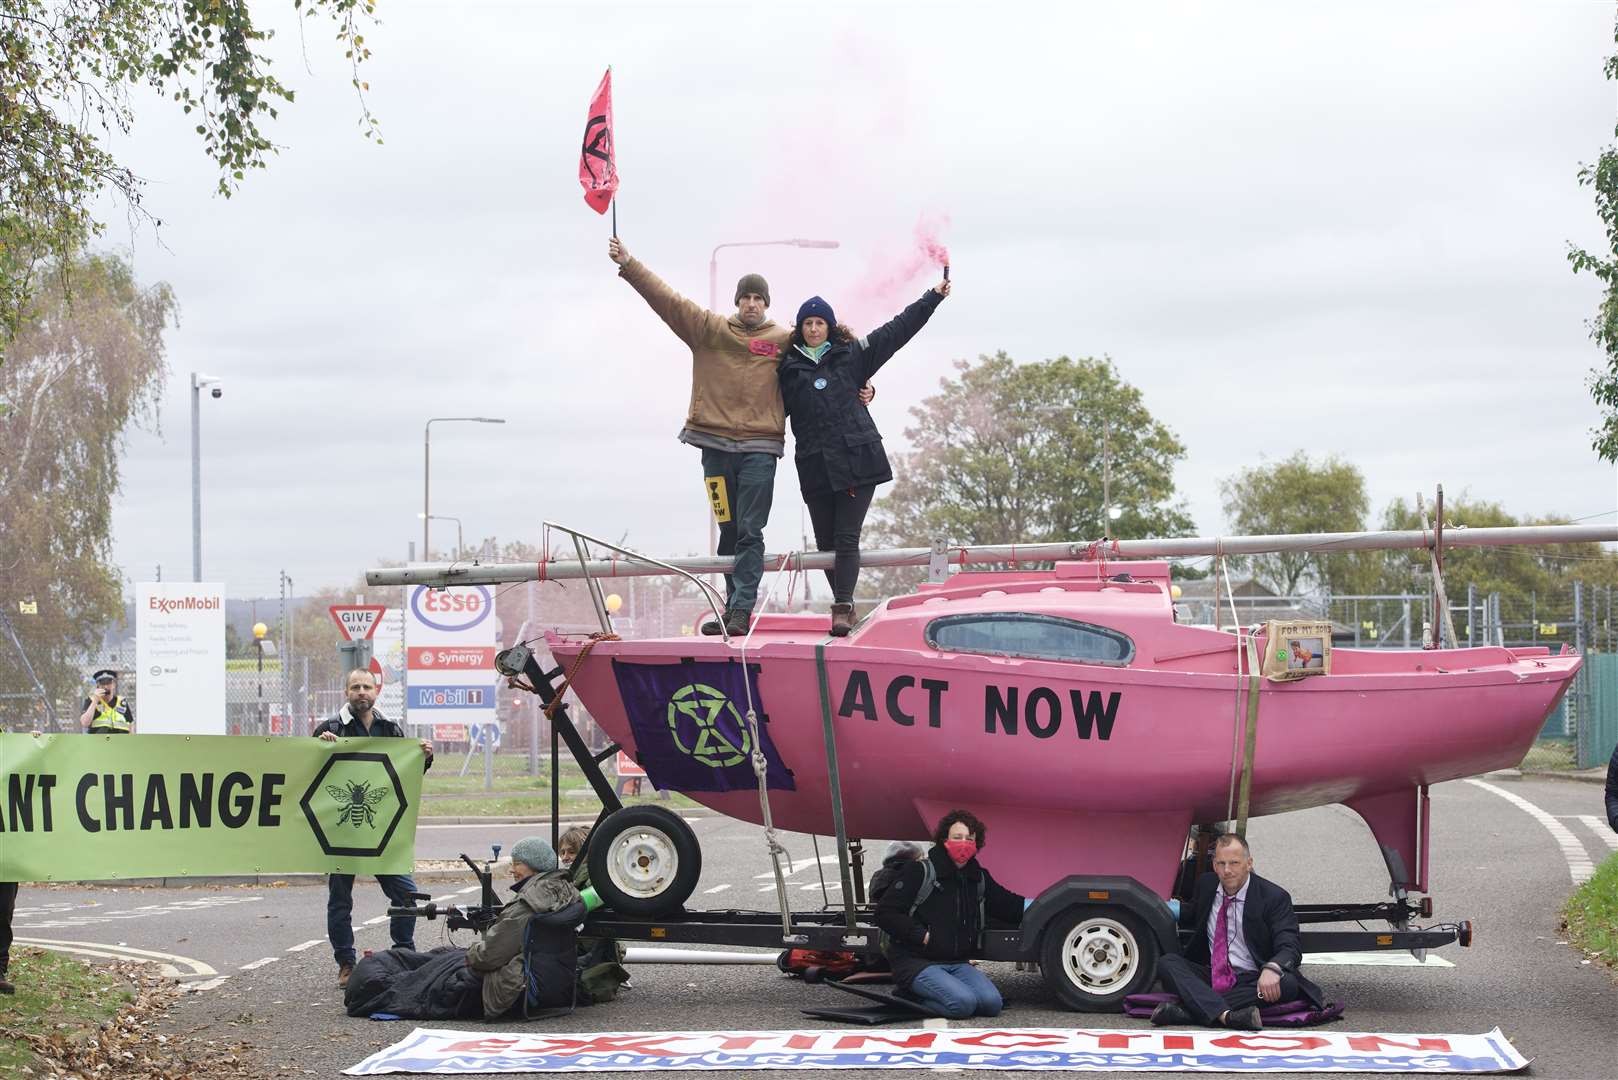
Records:
{"label": "white ExxonMobil sign board behind the green banner", "polygon": [[225,735],[225,586],[134,586],[134,730]]}

